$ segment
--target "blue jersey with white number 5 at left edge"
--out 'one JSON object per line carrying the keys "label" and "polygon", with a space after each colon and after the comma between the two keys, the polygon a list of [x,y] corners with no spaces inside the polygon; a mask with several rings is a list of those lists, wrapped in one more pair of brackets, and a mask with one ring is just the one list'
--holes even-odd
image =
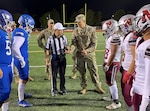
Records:
{"label": "blue jersey with white number 5 at left edge", "polygon": [[11,42],[7,33],[0,29],[0,64],[12,62]]}

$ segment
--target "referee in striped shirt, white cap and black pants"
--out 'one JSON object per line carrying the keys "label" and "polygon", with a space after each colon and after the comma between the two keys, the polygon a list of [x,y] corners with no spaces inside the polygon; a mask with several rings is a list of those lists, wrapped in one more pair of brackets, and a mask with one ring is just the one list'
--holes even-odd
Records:
{"label": "referee in striped shirt, white cap and black pants", "polygon": [[[52,96],[57,96],[57,73],[60,74],[60,94],[67,93],[65,87],[66,53],[70,53],[68,40],[63,35],[64,27],[61,23],[54,25],[54,34],[50,36],[46,44],[46,65],[51,65],[52,69]],[[51,63],[49,55],[52,54]]]}

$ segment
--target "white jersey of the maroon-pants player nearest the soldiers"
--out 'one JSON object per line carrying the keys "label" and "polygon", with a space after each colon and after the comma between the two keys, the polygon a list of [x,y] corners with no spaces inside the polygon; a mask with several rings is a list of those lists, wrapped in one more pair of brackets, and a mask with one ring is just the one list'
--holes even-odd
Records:
{"label": "white jersey of the maroon-pants player nearest the soldiers", "polygon": [[119,34],[113,34],[108,39],[106,39],[105,55],[104,55],[104,62],[105,63],[108,62],[109,57],[111,55],[111,45],[119,45],[113,62],[120,62],[121,42],[122,42],[121,38],[122,38],[121,35],[119,35]]}

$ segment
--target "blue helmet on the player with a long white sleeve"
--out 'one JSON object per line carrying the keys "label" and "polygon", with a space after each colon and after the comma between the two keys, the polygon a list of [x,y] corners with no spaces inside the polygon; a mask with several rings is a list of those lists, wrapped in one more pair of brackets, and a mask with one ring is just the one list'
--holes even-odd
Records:
{"label": "blue helmet on the player with a long white sleeve", "polygon": [[24,28],[24,30],[28,34],[32,32],[32,29],[35,25],[34,19],[28,14],[21,15],[18,19],[18,23]]}

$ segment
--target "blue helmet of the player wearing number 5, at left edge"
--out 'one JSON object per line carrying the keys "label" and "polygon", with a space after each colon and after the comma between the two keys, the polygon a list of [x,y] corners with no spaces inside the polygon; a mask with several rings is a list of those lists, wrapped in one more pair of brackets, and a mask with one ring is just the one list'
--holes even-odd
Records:
{"label": "blue helmet of the player wearing number 5, at left edge", "polygon": [[5,31],[10,31],[11,23],[13,22],[12,15],[3,9],[0,9],[0,27]]}

